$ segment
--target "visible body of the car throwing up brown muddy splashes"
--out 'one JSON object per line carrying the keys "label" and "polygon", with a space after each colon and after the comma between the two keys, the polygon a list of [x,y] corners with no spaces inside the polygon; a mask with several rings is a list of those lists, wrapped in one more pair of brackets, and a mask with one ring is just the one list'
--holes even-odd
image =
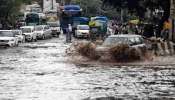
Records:
{"label": "visible body of the car throwing up brown muddy splashes", "polygon": [[108,52],[108,50],[111,47],[116,46],[118,44],[127,44],[130,47],[141,47],[146,49],[146,44],[144,43],[144,39],[142,38],[142,36],[122,34],[109,36],[105,39],[104,43],[101,46],[98,46],[96,48],[96,51],[105,53]]}

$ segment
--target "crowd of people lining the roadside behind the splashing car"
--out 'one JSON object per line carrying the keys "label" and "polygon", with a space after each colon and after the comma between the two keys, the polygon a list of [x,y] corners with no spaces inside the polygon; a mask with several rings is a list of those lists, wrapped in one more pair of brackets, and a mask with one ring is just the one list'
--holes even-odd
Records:
{"label": "crowd of people lining the roadside behind the splashing car", "polygon": [[160,37],[163,40],[168,40],[171,25],[168,21],[164,22],[161,32],[157,31],[158,26],[145,27],[144,24],[132,24],[132,23],[118,23],[117,21],[111,21],[109,25],[114,35],[117,34],[137,34],[145,37]]}

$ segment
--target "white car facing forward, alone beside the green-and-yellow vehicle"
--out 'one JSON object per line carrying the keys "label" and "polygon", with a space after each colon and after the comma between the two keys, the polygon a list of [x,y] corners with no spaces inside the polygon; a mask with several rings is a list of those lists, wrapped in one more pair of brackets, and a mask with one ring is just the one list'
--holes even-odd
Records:
{"label": "white car facing forward, alone beside the green-and-yellow vehicle", "polygon": [[75,37],[89,37],[90,28],[88,25],[77,25],[77,30],[75,31]]}

